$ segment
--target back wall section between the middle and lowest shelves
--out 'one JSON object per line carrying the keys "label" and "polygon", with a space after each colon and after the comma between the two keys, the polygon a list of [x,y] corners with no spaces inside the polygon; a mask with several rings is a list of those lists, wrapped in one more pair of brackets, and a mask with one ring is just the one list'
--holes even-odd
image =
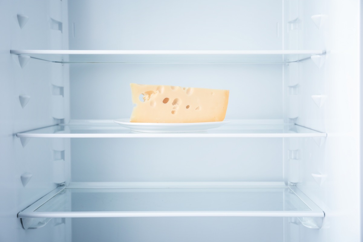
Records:
{"label": "back wall section between the middle and lowest shelves", "polygon": [[72,181],[281,181],[282,139],[72,139]]}

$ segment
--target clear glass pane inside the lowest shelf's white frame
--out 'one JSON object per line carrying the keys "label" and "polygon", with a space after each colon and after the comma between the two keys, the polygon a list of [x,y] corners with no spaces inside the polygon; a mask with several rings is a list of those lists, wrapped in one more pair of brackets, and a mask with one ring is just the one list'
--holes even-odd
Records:
{"label": "clear glass pane inside the lowest shelf's white frame", "polygon": [[65,189],[37,212],[309,211],[289,188]]}

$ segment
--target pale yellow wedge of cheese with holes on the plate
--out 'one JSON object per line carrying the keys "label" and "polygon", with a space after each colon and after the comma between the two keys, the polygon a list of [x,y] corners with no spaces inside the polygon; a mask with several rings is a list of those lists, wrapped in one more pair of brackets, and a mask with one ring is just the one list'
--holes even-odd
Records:
{"label": "pale yellow wedge of cheese with holes on the plate", "polygon": [[196,123],[223,121],[229,90],[131,83],[130,122]]}

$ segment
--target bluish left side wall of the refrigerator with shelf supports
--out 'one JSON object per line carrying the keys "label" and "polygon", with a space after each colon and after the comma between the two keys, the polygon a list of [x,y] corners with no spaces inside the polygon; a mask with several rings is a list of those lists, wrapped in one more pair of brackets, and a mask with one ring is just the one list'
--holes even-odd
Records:
{"label": "bluish left side wall of the refrigerator with shelf supports", "polygon": [[0,241],[67,240],[61,221],[24,230],[17,218],[17,213],[56,187],[53,161],[59,152],[53,141],[19,139],[16,134],[61,122],[54,118],[52,100],[61,95],[61,88],[54,85],[54,70],[62,73],[63,67],[10,54],[11,49],[61,49],[62,33],[52,28],[52,21],[62,21],[62,4],[61,0],[0,1],[4,20],[0,25]]}

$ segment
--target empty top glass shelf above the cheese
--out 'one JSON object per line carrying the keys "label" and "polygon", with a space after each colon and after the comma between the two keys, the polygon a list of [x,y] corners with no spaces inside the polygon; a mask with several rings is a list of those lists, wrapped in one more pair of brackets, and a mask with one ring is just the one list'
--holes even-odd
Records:
{"label": "empty top glass shelf above the cheese", "polygon": [[11,50],[62,63],[285,63],[322,50]]}

